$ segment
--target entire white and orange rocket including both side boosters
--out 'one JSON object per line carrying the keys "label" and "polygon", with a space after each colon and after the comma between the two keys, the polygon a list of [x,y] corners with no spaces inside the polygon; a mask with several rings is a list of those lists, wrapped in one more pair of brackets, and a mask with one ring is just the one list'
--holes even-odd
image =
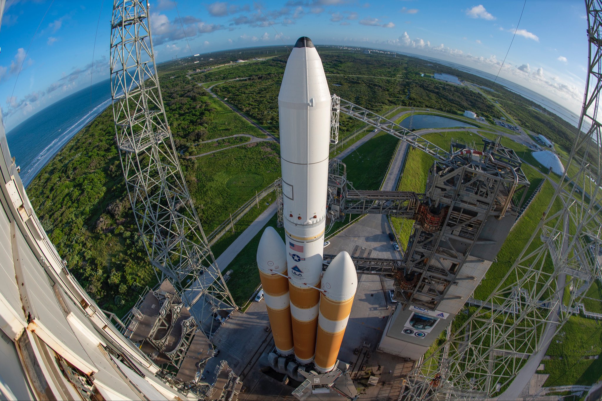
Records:
{"label": "entire white and orange rocket including both side boosters", "polygon": [[[278,107],[285,250],[282,254],[281,238],[276,238],[277,233],[268,228],[259,243],[257,262],[278,352],[290,353],[284,340],[288,336],[288,322],[279,317],[290,307],[297,362],[313,361],[319,333],[318,353],[323,355],[319,368],[328,371],[334,367],[343,340],[357,275],[353,261],[344,252],[346,256],[338,255],[335,266],[329,267],[342,276],[330,274],[329,270],[324,273],[330,275],[328,286],[332,292],[320,288],[326,227],[330,92],[320,56],[308,37],[299,38],[288,57]],[[287,294],[280,284],[280,290],[272,289],[275,275],[284,278],[283,258],[287,266]],[[326,312],[321,311],[323,307]]]}

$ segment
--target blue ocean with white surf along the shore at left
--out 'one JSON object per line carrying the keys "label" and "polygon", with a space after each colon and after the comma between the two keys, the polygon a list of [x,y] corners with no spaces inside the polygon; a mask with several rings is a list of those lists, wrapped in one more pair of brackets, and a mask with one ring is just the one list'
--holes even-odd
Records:
{"label": "blue ocean with white surf along the shore at left", "polygon": [[63,146],[111,105],[111,81],[75,92],[29,117],[7,132],[8,148],[21,167],[27,187]]}

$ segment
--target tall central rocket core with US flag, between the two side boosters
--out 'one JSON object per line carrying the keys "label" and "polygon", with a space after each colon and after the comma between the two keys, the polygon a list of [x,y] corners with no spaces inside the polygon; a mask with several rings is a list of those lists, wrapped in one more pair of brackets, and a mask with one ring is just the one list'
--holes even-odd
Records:
{"label": "tall central rocket core with US flag, between the two side boosters", "polygon": [[315,354],[330,135],[330,92],[308,37],[288,57],[278,108],[294,353],[304,364]]}

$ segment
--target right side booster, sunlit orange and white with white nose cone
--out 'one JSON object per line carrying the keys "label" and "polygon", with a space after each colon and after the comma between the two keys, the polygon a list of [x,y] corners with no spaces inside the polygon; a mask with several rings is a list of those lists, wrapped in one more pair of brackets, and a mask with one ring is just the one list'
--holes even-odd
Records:
{"label": "right side booster, sunlit orange and white with white nose cone", "polygon": [[343,251],[330,262],[322,276],[315,367],[321,372],[334,368],[358,288],[358,274],[349,253]]}

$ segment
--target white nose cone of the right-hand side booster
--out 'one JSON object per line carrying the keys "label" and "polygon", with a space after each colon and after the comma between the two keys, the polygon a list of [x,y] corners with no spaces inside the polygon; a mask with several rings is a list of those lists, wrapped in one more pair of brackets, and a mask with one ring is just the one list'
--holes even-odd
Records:
{"label": "white nose cone of the right-hand side booster", "polygon": [[331,300],[347,300],[358,288],[358,273],[349,253],[340,252],[322,276],[322,290]]}

